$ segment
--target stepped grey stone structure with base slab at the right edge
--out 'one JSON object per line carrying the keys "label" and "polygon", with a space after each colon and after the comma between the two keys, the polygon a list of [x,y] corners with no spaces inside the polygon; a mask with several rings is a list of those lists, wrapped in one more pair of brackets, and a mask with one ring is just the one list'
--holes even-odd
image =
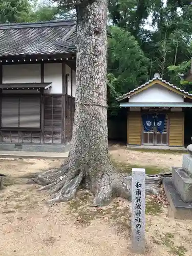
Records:
{"label": "stepped grey stone structure with base slab at the right edge", "polygon": [[176,219],[192,219],[192,144],[187,151],[189,155],[183,156],[182,167],[172,168],[172,179],[163,179],[170,214]]}

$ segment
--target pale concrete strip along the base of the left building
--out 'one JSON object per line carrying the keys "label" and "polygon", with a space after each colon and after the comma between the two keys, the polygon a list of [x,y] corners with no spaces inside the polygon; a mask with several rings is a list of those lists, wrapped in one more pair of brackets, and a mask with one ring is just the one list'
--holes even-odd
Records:
{"label": "pale concrete strip along the base of the left building", "polygon": [[25,151],[0,151],[0,158],[48,158],[65,159],[69,152],[51,153],[51,152],[25,152]]}

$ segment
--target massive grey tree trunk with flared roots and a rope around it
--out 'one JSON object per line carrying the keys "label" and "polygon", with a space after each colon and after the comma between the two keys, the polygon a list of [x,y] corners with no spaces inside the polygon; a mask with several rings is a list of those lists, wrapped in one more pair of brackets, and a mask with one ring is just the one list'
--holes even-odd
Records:
{"label": "massive grey tree trunk with flared roots and a rope around it", "polygon": [[[87,4],[88,3],[88,4]],[[52,201],[73,198],[80,185],[101,205],[129,199],[127,181],[115,172],[108,151],[106,105],[107,0],[84,0],[77,9],[76,103],[68,161],[35,179],[53,193]]]}

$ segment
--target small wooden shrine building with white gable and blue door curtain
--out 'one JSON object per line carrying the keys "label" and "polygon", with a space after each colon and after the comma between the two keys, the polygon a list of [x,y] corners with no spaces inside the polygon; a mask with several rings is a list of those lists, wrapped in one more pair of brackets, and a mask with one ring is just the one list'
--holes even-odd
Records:
{"label": "small wooden shrine building with white gable and blue door curtain", "polygon": [[192,94],[155,74],[117,100],[127,108],[127,145],[184,146],[184,110],[192,107]]}

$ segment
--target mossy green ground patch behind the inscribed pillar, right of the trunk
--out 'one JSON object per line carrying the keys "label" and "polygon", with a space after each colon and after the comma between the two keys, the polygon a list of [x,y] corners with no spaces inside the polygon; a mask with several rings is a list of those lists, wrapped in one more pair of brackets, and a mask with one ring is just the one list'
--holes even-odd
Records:
{"label": "mossy green ground patch behind the inscribed pillar, right of the trunk", "polygon": [[118,162],[112,159],[113,165],[119,170],[121,173],[131,174],[132,168],[145,168],[146,174],[159,174],[163,172],[169,171],[166,168],[158,168],[156,166],[143,166],[136,164],[126,164],[123,162]]}

